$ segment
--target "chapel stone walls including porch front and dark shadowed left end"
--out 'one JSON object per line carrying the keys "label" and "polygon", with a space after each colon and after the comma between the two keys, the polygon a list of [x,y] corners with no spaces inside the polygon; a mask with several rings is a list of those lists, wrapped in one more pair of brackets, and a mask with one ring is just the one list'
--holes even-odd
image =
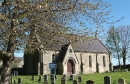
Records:
{"label": "chapel stone walls including porch front and dark shadowed left end", "polygon": [[[69,50],[72,50],[70,53]],[[25,59],[24,72],[25,74],[50,74],[49,63],[52,63],[52,55],[58,55],[59,51],[46,51],[42,54],[28,55]],[[91,57],[91,66],[89,62]],[[103,57],[105,57],[105,66],[103,65]],[[94,52],[74,52],[72,47],[69,46],[62,63],[63,69],[60,73],[67,74],[67,62],[71,59],[74,62],[74,74],[90,74],[90,73],[103,73],[110,71],[111,57],[107,53],[94,53]]]}

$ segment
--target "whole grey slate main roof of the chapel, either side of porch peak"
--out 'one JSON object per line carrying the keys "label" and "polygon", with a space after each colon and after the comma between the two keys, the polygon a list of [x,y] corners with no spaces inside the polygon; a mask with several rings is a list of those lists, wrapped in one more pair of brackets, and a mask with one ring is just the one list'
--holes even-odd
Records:
{"label": "whole grey slate main roof of the chapel, either side of porch peak", "polygon": [[50,50],[61,50],[61,48],[68,43],[71,43],[73,50],[77,52],[110,53],[106,46],[95,37],[83,37],[71,42],[68,41],[68,39],[59,37],[57,41],[44,45],[44,47]]}

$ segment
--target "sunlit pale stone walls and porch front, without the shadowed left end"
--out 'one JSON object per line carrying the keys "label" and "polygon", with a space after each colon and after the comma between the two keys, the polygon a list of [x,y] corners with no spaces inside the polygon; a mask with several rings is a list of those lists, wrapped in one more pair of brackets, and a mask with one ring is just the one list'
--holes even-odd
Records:
{"label": "sunlit pale stone walls and porch front, without the shadowed left end", "polygon": [[[68,47],[68,50],[72,49],[72,47]],[[92,52],[74,52],[69,53],[67,50],[66,56],[63,60],[63,74],[67,74],[67,61],[69,59],[74,60],[75,62],[75,74],[84,73],[103,73],[105,71],[110,71],[110,61],[111,58],[109,54],[106,53],[92,53]],[[55,51],[48,51],[48,53],[43,54],[43,70],[44,74],[49,74],[49,63],[52,63],[52,55],[54,53],[58,53]],[[89,56],[91,56],[91,67],[89,66]],[[105,57],[105,66],[103,65],[103,57]],[[82,69],[81,69],[82,65]]]}

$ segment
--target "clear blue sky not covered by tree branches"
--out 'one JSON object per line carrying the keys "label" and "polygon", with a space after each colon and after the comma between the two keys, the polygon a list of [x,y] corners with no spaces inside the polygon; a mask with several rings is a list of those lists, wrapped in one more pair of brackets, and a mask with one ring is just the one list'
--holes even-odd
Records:
{"label": "clear blue sky not covered by tree branches", "polygon": [[[103,0],[104,2],[107,2],[111,5],[110,9],[112,10],[110,16],[113,16],[111,20],[116,21],[120,18],[119,22],[116,22],[113,24],[115,27],[123,26],[123,25],[130,25],[130,0]],[[110,25],[105,25],[105,29],[107,30]],[[23,53],[15,53],[15,56],[22,57]],[[112,58],[113,65],[118,65],[118,61],[114,58]],[[127,60],[127,64],[130,64]]]}

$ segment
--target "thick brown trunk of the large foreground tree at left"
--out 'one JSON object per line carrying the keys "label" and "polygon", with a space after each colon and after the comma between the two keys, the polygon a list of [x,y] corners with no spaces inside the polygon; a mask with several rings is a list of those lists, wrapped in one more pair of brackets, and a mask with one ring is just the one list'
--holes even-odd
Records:
{"label": "thick brown trunk of the large foreground tree at left", "polygon": [[[3,61],[3,70],[1,74],[1,83],[0,84],[10,84],[10,75],[11,75],[11,64],[14,60],[14,50],[16,48],[16,29],[15,29],[16,21],[14,19],[11,20],[11,30],[9,35],[9,41],[7,46],[6,55],[2,57]],[[8,56],[10,54],[10,56]]]}

